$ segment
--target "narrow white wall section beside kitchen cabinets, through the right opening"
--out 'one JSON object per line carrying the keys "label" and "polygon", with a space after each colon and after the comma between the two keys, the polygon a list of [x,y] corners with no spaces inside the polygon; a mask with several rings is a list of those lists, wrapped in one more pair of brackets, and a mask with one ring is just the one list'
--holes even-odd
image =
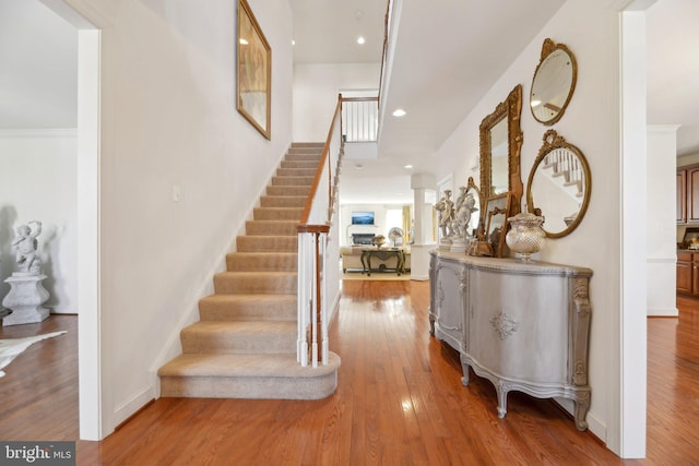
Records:
{"label": "narrow white wall section beside kitchen cabinets, through the right opening", "polygon": [[675,306],[677,128],[648,128],[648,315],[678,315]]}

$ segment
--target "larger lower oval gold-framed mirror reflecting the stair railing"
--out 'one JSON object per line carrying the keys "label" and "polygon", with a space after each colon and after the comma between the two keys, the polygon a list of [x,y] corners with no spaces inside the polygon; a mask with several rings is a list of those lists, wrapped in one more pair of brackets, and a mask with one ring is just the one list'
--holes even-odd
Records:
{"label": "larger lower oval gold-framed mirror reflecting the stair railing", "polygon": [[544,217],[543,230],[560,238],[574,230],[588,210],[592,177],[582,152],[555,130],[543,145],[526,181],[528,211]]}

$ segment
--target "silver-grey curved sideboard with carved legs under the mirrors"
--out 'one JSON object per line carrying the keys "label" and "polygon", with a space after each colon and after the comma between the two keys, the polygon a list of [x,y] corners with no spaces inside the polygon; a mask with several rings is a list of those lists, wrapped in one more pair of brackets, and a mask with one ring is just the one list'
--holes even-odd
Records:
{"label": "silver-grey curved sideboard with carved legs under the mirrors", "polygon": [[464,385],[470,367],[493,382],[500,418],[508,392],[519,391],[572,399],[576,427],[585,430],[591,276],[582,267],[433,251],[430,332],[460,353]]}

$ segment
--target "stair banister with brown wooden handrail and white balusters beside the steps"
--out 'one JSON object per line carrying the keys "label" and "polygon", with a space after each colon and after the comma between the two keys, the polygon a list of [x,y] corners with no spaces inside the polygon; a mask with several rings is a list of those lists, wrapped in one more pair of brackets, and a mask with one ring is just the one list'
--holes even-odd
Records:
{"label": "stair banister with brown wooden handrail and white balusters beside the steps", "polygon": [[298,337],[296,356],[306,367],[328,363],[329,306],[327,246],[335,212],[337,176],[343,154],[342,95],[323,146],[316,178],[306,202],[298,231]]}

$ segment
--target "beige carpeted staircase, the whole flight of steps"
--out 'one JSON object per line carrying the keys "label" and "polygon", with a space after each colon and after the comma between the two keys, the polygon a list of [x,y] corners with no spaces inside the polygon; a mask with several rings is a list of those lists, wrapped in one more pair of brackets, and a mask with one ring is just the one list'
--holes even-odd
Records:
{"label": "beige carpeted staircase, the whole flight of steps", "polygon": [[182,355],[158,370],[161,396],[317,399],[337,385],[340,358],[296,360],[297,231],[322,144],[293,144],[266,194],[181,331]]}

